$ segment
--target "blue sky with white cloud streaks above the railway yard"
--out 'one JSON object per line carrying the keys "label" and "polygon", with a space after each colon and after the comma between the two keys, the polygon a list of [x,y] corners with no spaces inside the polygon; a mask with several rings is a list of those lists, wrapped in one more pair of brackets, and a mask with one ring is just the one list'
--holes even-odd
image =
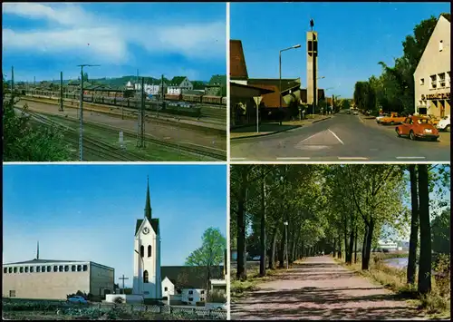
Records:
{"label": "blue sky with white cloud streaks above the railway yard", "polygon": [[2,4],[4,73],[36,81],[77,78],[81,63],[101,64],[92,78],[226,73],[223,3]]}

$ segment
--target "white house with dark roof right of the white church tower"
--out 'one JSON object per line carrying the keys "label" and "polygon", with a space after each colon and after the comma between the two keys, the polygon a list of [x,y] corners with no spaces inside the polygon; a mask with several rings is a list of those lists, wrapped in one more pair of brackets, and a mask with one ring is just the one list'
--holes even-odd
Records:
{"label": "white house with dark roof right of the white church tower", "polygon": [[223,266],[211,268],[209,281],[204,266],[162,266],[160,269],[162,297],[169,298],[173,304],[181,302],[195,306],[197,302],[205,302],[207,288],[218,288],[219,279],[225,281]]}

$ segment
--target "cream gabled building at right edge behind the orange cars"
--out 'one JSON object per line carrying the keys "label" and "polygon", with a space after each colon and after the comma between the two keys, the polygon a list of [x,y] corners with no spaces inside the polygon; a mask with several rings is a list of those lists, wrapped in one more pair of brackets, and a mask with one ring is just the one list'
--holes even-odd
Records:
{"label": "cream gabled building at right edge behind the orange cars", "polygon": [[419,114],[450,114],[450,28],[450,15],[440,15],[415,70],[415,112]]}

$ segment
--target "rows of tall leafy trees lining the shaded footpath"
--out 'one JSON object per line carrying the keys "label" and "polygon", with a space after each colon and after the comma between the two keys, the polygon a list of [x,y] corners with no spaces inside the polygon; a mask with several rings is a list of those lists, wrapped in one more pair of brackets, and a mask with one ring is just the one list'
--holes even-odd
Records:
{"label": "rows of tall leafy trees lining the shaded footpath", "polygon": [[419,244],[418,287],[427,293],[432,250],[449,253],[448,165],[234,165],[230,182],[237,279],[247,278],[247,252],[260,256],[260,276],[322,250],[352,264],[360,249],[361,269],[369,269],[371,250],[391,228],[410,230],[408,283]]}

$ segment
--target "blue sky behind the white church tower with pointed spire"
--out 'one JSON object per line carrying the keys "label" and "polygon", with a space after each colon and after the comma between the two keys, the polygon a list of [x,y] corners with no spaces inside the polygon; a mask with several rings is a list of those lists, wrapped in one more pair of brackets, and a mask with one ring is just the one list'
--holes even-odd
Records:
{"label": "blue sky behind the white church tower with pointed spire", "polygon": [[[161,262],[184,265],[209,227],[226,236],[225,165],[4,165],[3,262],[92,260],[132,278],[146,182]],[[118,280],[116,281],[118,282]]]}

